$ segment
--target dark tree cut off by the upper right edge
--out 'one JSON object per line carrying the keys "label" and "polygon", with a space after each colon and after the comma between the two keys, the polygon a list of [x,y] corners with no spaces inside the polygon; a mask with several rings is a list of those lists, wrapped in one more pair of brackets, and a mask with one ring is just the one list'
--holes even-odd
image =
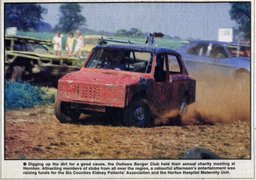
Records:
{"label": "dark tree cut off by the upper right edge", "polygon": [[250,3],[230,3],[231,10],[229,11],[231,20],[236,20],[239,25],[236,30],[243,33],[245,40],[250,40],[251,37],[251,4]]}

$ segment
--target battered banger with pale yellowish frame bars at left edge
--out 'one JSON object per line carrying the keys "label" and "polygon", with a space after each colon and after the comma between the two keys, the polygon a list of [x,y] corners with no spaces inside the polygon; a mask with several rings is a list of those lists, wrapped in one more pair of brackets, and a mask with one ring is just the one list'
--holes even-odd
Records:
{"label": "battered banger with pale yellowish frame bars at left edge", "polygon": [[51,40],[6,35],[5,79],[56,85],[67,73],[80,70],[81,60],[51,54]]}

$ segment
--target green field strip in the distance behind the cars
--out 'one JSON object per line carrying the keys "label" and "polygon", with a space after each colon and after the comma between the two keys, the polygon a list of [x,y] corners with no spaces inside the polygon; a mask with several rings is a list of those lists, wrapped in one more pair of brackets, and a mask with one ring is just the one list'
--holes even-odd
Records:
{"label": "green field strip in the distance behind the cars", "polygon": [[[17,34],[22,36],[29,36],[34,38],[40,38],[42,40],[52,40],[52,38],[55,36],[55,33],[49,33],[49,32],[23,32],[18,31]],[[90,35],[83,33],[84,35]],[[68,33],[63,33],[63,44],[65,44],[68,37]],[[100,35],[99,35],[100,37]],[[136,41],[139,43],[144,43],[145,38],[131,38],[131,37],[118,37],[118,36],[111,36],[108,38],[113,38],[116,40],[122,40],[122,41]],[[177,47],[180,47],[182,43],[180,43],[180,40],[170,40],[167,38],[156,38],[156,44],[160,47],[168,47],[170,49],[176,49]]]}

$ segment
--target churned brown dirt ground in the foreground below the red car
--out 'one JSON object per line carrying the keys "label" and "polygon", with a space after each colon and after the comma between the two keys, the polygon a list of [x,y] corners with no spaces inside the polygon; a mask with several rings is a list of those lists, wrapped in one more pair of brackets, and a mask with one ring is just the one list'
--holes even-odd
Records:
{"label": "churned brown dirt ground in the foreground below the red car", "polygon": [[182,158],[190,147],[200,146],[223,158],[250,158],[248,122],[126,128],[81,120],[86,123],[59,123],[52,105],[10,110],[6,112],[5,156],[8,159],[176,159]]}

